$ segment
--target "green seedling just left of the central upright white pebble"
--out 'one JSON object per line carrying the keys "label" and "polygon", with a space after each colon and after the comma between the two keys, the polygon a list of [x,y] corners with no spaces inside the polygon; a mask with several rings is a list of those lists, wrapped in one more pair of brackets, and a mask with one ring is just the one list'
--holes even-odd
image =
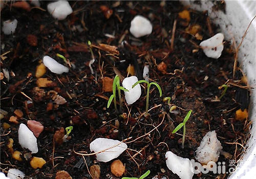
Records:
{"label": "green seedling just left of the central upright white pebble", "polygon": [[118,90],[118,96],[119,96],[119,104],[120,104],[120,110],[122,108],[122,97],[121,97],[121,90],[124,92],[129,92],[128,89],[125,89],[123,86],[120,86],[120,79],[118,77],[118,75],[115,76],[114,81],[113,81],[113,87],[112,87],[112,91],[113,91],[113,95],[110,96],[110,99],[108,101],[108,108],[110,107],[110,104],[114,98],[114,105],[115,105],[115,109],[117,110],[117,106],[116,106],[116,87]]}

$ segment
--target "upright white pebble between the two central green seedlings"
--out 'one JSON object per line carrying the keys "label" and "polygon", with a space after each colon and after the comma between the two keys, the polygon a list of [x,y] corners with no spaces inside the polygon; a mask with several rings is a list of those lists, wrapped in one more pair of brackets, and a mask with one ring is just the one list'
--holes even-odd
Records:
{"label": "upright white pebble between the two central green seedlings", "polygon": [[138,81],[136,76],[131,76],[123,79],[122,86],[129,90],[129,92],[124,92],[125,100],[127,104],[133,104],[140,98],[141,88],[140,84],[137,84],[132,88],[133,84]]}

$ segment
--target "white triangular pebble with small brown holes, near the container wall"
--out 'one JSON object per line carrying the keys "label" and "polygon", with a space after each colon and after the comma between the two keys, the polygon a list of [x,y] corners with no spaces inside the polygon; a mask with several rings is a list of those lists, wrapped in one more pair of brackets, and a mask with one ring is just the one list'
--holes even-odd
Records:
{"label": "white triangular pebble with small brown holes, near the container wall", "polygon": [[224,48],[223,46],[224,35],[218,33],[207,40],[200,43],[200,47],[203,49],[205,55],[210,58],[219,58]]}

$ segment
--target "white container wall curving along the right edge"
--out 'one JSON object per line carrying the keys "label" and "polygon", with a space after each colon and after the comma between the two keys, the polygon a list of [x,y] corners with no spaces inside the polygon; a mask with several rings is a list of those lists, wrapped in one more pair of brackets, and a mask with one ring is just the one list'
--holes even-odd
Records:
{"label": "white container wall curving along the right edge", "polygon": [[[182,1],[190,5],[191,9],[208,10],[212,22],[218,24],[226,40],[232,37],[239,44],[252,18],[256,15],[256,1],[225,1],[226,14],[222,11],[212,11],[211,1],[201,1],[201,5],[193,1]],[[251,136],[247,143],[247,150],[243,162],[233,172],[229,179],[255,178],[256,174],[256,19],[253,20],[248,33],[239,49],[239,62],[248,78],[251,89],[251,104],[249,117],[252,120]]]}

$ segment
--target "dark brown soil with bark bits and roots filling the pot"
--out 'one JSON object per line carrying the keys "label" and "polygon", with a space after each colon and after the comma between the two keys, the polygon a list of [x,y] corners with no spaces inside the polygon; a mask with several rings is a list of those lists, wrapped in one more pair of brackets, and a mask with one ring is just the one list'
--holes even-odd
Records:
{"label": "dark brown soil with bark bits and roots filling the pot", "polygon": [[[90,178],[82,156],[74,151],[90,153],[90,142],[96,138],[122,141],[132,137],[126,141],[129,149],[118,157],[125,164],[123,176],[139,177],[150,170],[147,178],[155,175],[179,178],[165,164],[166,151],[195,159],[195,151],[203,136],[212,130],[216,130],[223,151],[229,153],[226,153],[226,158],[222,154],[219,158],[226,163],[226,170],[230,167],[230,160],[240,159],[243,147],[239,144],[245,145],[250,122],[236,120],[235,113],[240,108],[248,108],[249,91],[240,69],[233,77],[234,48],[229,41],[224,41],[219,59],[206,57],[200,49],[202,40],[220,32],[211,23],[207,12],[191,10],[175,1],[72,1],[69,3],[73,13],[65,20],[57,21],[45,11],[48,3],[40,1],[41,9],[30,11],[8,3],[1,11],[1,23],[7,19],[18,20],[13,35],[1,33],[1,72],[6,69],[10,74],[9,81],[6,77],[1,80],[1,108],[8,111],[8,115],[1,119],[3,172],[17,168],[26,174],[25,178],[55,178],[58,171],[65,170],[73,178]],[[186,9],[189,19],[179,15]],[[150,19],[152,34],[133,37],[129,29],[135,15]],[[195,25],[199,27],[196,30]],[[92,64],[94,74],[89,68],[92,59],[89,40],[95,57]],[[117,49],[104,45],[102,48],[100,43]],[[57,53],[67,60],[58,57]],[[40,78],[51,82],[47,87],[38,87],[35,73],[44,55],[68,66],[69,73],[57,75],[47,69]],[[134,104],[123,102],[122,111],[118,113],[114,104],[106,107],[112,92],[103,91],[103,78],[113,79],[118,74],[122,80],[127,76],[129,65],[134,67],[139,79],[143,79],[144,65],[149,65],[150,81],[161,86],[162,97],[159,97],[156,87],[150,90],[151,110],[147,117],[143,114],[146,102],[144,84],[141,85],[142,95]],[[223,84],[228,88],[219,99],[223,88],[218,87]],[[56,93],[67,103],[56,104],[53,97]],[[122,97],[124,99],[123,94]],[[167,102],[163,102],[164,97],[170,97],[171,105],[177,106],[172,113],[169,113]],[[10,122],[16,109],[23,111],[24,115],[16,123]],[[183,121],[189,109],[193,112],[186,123],[185,147],[182,149],[182,130],[177,132],[181,135],[172,134],[172,131]],[[29,151],[18,143],[19,124],[27,124],[28,120],[44,125],[44,131],[37,138],[39,150],[32,154],[46,161],[39,169],[30,166],[31,159],[24,157]],[[4,128],[4,123],[10,124],[10,128]],[[68,126],[73,126],[71,139],[58,144],[54,141],[54,133]],[[12,158],[7,146],[10,138],[14,141],[13,150],[22,152],[22,161]],[[112,162],[97,162],[95,156],[84,156],[84,159],[88,167],[100,165],[100,178],[116,178],[110,170]],[[209,172],[195,174],[193,178],[226,177],[227,174]]]}

